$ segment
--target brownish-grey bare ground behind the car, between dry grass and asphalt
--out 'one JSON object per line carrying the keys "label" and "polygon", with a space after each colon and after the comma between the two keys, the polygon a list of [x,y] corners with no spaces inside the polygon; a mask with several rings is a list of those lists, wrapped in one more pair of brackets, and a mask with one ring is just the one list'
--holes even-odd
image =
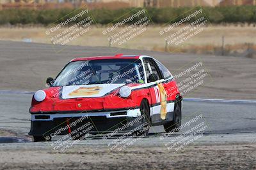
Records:
{"label": "brownish-grey bare ground behind the car, between dry grass and asphalt", "polygon": [[63,48],[14,41],[0,41],[0,52],[0,90],[44,89],[46,78],[55,77],[71,59],[124,53],[156,57],[173,74],[179,73],[181,67],[195,59],[202,60],[213,81],[185,97],[255,99],[256,94],[256,59],[246,57],[182,55],[88,46]]}

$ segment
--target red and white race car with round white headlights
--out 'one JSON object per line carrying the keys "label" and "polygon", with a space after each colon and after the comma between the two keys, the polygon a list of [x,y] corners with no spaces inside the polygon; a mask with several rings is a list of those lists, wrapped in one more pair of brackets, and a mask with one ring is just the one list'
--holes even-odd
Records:
{"label": "red and white race car with round white headlights", "polygon": [[[150,126],[179,131],[182,96],[166,67],[147,55],[72,59],[32,97],[30,136],[144,134]],[[77,135],[79,134],[79,135]]]}

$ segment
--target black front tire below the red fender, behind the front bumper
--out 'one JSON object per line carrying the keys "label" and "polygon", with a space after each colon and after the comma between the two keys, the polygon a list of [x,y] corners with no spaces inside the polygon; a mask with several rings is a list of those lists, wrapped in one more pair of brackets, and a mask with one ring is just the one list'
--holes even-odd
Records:
{"label": "black front tire below the red fender, behind the front bumper", "polygon": [[141,119],[141,124],[144,124],[143,128],[133,133],[133,136],[147,136],[150,127],[150,108],[146,99],[143,99],[140,104],[141,115],[144,118]]}

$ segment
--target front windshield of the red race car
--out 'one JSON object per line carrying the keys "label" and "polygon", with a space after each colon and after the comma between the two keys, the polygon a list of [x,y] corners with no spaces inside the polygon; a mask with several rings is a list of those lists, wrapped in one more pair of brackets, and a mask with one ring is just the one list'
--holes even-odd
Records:
{"label": "front windshield of the red race car", "polygon": [[103,59],[70,62],[55,78],[53,86],[104,83],[144,83],[138,59]]}

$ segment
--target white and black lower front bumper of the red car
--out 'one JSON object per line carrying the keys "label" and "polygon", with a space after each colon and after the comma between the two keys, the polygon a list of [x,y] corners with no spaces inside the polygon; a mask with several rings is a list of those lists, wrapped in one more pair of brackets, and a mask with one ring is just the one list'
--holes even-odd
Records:
{"label": "white and black lower front bumper of the red car", "polygon": [[[84,125],[88,125],[84,130],[87,129],[86,132],[93,134],[116,132],[116,129],[118,132],[129,132],[141,125],[141,119],[139,108],[93,113],[38,113],[31,115],[29,135],[65,135],[70,132],[79,132]],[[128,127],[127,124],[129,124]]]}

